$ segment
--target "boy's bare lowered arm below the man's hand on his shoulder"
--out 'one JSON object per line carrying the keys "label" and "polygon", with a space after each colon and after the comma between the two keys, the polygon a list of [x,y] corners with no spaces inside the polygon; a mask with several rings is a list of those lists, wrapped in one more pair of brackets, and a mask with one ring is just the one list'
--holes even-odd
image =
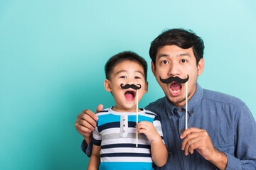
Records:
{"label": "boy's bare lowered arm below the man's hand on his shoulder", "polygon": [[87,170],[97,170],[100,166],[100,146],[93,145],[92,147],[92,155],[90,157],[89,164],[87,166]]}

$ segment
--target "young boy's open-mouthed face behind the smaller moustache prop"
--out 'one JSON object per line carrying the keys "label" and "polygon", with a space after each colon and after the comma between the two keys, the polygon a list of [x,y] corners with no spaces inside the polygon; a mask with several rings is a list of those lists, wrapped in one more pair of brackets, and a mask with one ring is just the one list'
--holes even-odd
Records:
{"label": "young boy's open-mouthed face behind the smaller moustache prop", "polygon": [[[105,89],[112,92],[116,106],[114,111],[119,112],[136,112],[136,90],[122,89],[120,84],[140,84],[141,89],[138,90],[139,101],[146,94],[148,83],[144,78],[143,67],[134,61],[124,60],[117,64],[113,69],[110,80],[105,79]],[[138,86],[138,85],[137,85]]]}

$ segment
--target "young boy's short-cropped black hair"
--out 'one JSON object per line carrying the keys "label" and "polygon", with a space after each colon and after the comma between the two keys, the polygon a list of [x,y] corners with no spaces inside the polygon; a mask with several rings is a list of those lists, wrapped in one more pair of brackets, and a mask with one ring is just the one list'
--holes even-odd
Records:
{"label": "young boy's short-cropped black hair", "polygon": [[105,64],[106,79],[110,79],[110,74],[112,73],[112,70],[114,69],[114,67],[120,62],[123,62],[125,60],[137,62],[138,64],[140,64],[144,69],[144,78],[146,81],[146,72],[147,72],[146,61],[144,60],[144,58],[140,57],[139,55],[137,55],[135,52],[132,52],[132,51],[119,52],[117,55],[114,55],[107,61],[107,63]]}

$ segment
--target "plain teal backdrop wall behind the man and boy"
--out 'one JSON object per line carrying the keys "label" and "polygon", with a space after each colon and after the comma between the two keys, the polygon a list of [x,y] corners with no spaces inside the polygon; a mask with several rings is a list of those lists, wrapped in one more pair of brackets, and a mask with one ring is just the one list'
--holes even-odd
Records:
{"label": "plain teal backdrop wall behind the man and boy", "polygon": [[104,65],[133,50],[149,64],[140,107],[164,96],[150,42],[190,28],[205,42],[205,89],[241,98],[256,118],[256,2],[0,1],[0,169],[86,169],[78,113],[114,105]]}

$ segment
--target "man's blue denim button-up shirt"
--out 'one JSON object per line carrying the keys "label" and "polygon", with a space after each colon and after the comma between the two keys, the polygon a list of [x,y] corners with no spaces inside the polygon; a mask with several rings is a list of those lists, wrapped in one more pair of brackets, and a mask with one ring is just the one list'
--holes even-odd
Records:
{"label": "man's blue denim button-up shirt", "polygon": [[[217,169],[196,150],[188,156],[181,150],[185,108],[177,108],[166,97],[146,106],[159,115],[169,152],[166,165],[161,168],[154,166],[154,169]],[[256,169],[256,123],[240,99],[202,89],[196,84],[196,93],[188,101],[190,127],[208,132],[213,146],[228,157],[226,169]],[[81,147],[90,155],[91,145],[87,147],[83,141]]]}

